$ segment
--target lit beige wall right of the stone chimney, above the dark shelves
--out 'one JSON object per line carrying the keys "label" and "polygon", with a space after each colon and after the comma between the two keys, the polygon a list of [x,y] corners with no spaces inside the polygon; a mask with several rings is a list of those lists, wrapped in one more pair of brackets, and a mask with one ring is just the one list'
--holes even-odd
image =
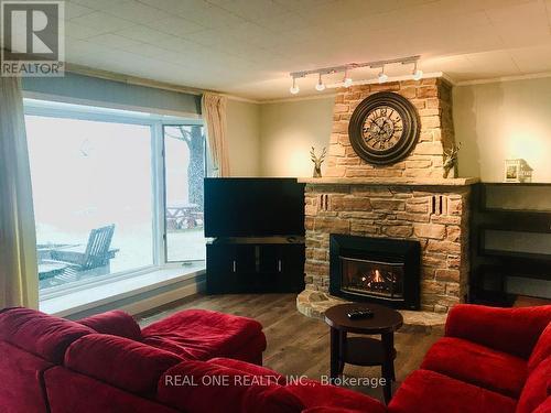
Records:
{"label": "lit beige wall right of the stone chimney, above the dark shelves", "polygon": [[551,182],[551,77],[454,87],[460,175],[501,182],[522,157],[534,182]]}

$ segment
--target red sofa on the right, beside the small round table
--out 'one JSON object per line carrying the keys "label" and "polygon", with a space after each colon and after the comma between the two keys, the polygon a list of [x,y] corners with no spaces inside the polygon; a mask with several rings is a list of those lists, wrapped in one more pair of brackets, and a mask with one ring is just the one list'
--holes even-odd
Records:
{"label": "red sofa on the right, beside the small round table", "polygon": [[391,413],[550,413],[551,305],[456,305]]}

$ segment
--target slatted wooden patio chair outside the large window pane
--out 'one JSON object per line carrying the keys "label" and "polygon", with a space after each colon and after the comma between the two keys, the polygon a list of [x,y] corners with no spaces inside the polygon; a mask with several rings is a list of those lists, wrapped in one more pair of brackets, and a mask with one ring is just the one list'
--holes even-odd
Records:
{"label": "slatted wooden patio chair outside the large window pane", "polygon": [[109,249],[114,232],[115,225],[93,229],[84,252],[77,250],[79,247],[52,250],[50,253],[52,260],[45,262],[66,263],[75,271],[87,271],[109,265],[109,260],[115,258],[115,253],[118,252],[117,249]]}

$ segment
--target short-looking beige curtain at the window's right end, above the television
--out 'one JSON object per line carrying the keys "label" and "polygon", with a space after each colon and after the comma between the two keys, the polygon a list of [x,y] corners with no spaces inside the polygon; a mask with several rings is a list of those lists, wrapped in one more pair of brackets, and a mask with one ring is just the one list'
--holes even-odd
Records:
{"label": "short-looking beige curtain at the window's right end, above the television", "polygon": [[216,94],[204,94],[201,100],[206,123],[208,146],[217,176],[229,176],[229,155],[226,140],[227,98]]}

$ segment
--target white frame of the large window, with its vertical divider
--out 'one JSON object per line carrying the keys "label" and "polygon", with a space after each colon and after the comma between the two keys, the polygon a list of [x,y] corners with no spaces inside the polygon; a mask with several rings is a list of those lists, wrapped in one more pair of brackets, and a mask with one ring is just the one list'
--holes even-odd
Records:
{"label": "white frame of the large window, with its vertical divider", "polygon": [[[112,281],[119,281],[127,278],[142,275],[148,272],[162,269],[181,268],[190,263],[197,263],[204,260],[190,261],[169,261],[166,246],[166,218],[165,218],[165,159],[164,159],[164,127],[170,126],[204,126],[202,118],[180,117],[174,115],[145,113],[133,110],[110,109],[80,104],[65,104],[54,100],[44,100],[28,98],[23,99],[24,115],[39,116],[62,119],[88,120],[110,123],[139,124],[149,127],[151,131],[151,194],[152,194],[152,264],[128,271],[119,271],[106,275],[99,275],[95,279],[85,280],[66,285],[56,285],[40,291],[41,300],[47,300],[55,296],[65,295],[73,291],[79,291],[84,287],[90,287],[107,284]],[[91,104],[90,104],[91,105]],[[207,150],[208,141],[205,142]],[[205,173],[208,169],[205,169]]]}

